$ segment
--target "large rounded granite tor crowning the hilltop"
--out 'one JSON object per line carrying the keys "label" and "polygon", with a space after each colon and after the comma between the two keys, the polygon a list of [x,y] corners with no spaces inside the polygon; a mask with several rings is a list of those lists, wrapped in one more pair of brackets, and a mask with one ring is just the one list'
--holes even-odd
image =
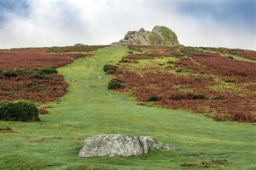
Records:
{"label": "large rounded granite tor crowning the hilltop", "polygon": [[129,46],[129,45],[179,45],[176,34],[165,26],[155,26],[153,30],[129,31],[124,39],[119,42],[113,42],[111,46]]}

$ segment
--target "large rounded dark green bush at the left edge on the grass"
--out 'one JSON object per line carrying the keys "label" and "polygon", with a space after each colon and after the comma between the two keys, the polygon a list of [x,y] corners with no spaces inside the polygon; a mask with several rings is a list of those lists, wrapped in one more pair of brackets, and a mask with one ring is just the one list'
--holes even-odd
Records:
{"label": "large rounded dark green bush at the left edge on the grass", "polygon": [[40,121],[36,105],[25,100],[0,103],[0,119],[22,122]]}

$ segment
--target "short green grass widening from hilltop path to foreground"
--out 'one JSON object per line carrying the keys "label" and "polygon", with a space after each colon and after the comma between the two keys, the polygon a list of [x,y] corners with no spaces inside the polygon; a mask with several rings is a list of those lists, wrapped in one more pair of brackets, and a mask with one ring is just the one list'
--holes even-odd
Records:
{"label": "short green grass widening from hilltop path to foreground", "polygon": [[[103,66],[118,63],[127,51],[105,47],[95,56],[59,68],[70,84],[68,93],[48,104],[53,108],[40,116],[42,122],[0,121],[0,126],[20,132],[0,132],[0,169],[179,169],[186,168],[180,166],[184,163],[213,159],[228,160],[225,167],[215,165],[221,169],[256,168],[255,125],[141,106],[131,97],[107,90],[110,77]],[[85,138],[106,133],[153,136],[176,147],[134,157],[77,157]]]}

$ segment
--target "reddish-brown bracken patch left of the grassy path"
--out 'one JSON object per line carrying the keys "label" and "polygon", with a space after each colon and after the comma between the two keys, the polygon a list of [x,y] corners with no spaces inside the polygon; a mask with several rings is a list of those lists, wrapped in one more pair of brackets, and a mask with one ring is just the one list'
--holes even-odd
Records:
{"label": "reddish-brown bracken patch left of the grassy path", "polygon": [[[57,74],[78,58],[104,46],[14,48],[0,51],[0,101],[28,100],[45,103],[58,100],[68,83]],[[66,53],[75,51],[78,53]],[[51,53],[49,53],[51,52]],[[62,52],[62,53],[60,53]]]}

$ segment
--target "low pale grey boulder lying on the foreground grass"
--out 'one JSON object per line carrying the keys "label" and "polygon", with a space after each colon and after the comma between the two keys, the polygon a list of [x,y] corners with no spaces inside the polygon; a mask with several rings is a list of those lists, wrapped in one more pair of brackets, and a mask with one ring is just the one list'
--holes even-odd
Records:
{"label": "low pale grey boulder lying on the foreground grass", "polygon": [[130,134],[100,134],[85,139],[78,157],[114,157],[131,156],[148,153],[155,149],[170,150],[172,145],[157,143],[149,136],[132,136]]}

